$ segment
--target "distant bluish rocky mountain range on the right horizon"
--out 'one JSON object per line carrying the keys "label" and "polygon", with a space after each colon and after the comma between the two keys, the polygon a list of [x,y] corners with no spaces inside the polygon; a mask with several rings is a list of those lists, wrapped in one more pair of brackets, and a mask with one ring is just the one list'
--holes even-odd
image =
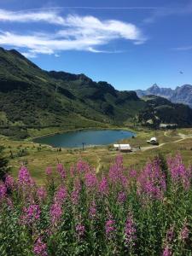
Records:
{"label": "distant bluish rocky mountain range on the right horizon", "polygon": [[177,86],[175,90],[171,88],[160,88],[157,84],[153,84],[147,90],[136,90],[137,96],[148,96],[156,95],[165,97],[173,103],[183,103],[189,105],[192,108],[192,85],[183,84],[182,86]]}

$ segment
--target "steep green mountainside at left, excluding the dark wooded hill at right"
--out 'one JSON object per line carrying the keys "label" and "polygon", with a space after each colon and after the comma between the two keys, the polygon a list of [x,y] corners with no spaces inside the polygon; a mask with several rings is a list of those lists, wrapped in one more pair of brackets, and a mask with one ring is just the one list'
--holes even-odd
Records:
{"label": "steep green mountainside at left, excluding the dark wooded hill at right", "polygon": [[69,125],[74,118],[116,123],[133,117],[132,102],[143,107],[135,92],[83,74],[46,72],[17,51],[0,49],[0,108],[9,124]]}

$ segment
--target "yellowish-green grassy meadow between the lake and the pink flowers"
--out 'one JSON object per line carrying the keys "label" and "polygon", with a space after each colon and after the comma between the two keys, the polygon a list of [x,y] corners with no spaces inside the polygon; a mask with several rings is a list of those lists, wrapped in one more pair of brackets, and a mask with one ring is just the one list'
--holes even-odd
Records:
{"label": "yellowish-green grassy meadow between the lake and the pink flowers", "polygon": [[[129,130],[129,129],[128,129]],[[50,133],[47,131],[46,133]],[[121,143],[130,143],[137,151],[122,153],[125,166],[141,169],[148,159],[153,159],[156,154],[176,154],[178,151],[186,165],[192,162],[192,129],[177,129],[156,131],[159,146],[151,146],[146,141],[154,137],[155,132],[147,129],[137,129],[137,137],[122,140]],[[34,134],[34,133],[33,133]],[[66,168],[76,163],[79,159],[87,160],[91,166],[96,167],[96,172],[101,175],[108,172],[110,163],[118,154],[113,145],[85,148],[52,148],[48,145],[32,143],[30,140],[14,141],[7,137],[0,137],[0,144],[5,147],[9,157],[9,166],[14,177],[22,163],[30,169],[32,177],[39,184],[44,184],[44,170],[47,166],[55,166],[61,162]],[[138,150],[138,147],[141,150]]]}

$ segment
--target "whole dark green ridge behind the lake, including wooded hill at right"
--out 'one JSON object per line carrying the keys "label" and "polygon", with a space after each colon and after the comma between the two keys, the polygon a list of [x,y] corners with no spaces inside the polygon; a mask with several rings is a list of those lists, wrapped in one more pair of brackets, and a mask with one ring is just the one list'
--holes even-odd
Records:
{"label": "whole dark green ridge behind the lake, including wooded hill at right", "polygon": [[115,90],[84,74],[48,72],[15,49],[0,48],[2,134],[13,136],[18,127],[21,137],[27,137],[27,129],[50,126],[66,130],[133,122],[148,125],[153,115],[159,123],[192,125],[192,109],[183,104],[159,96],[140,99],[135,91]]}

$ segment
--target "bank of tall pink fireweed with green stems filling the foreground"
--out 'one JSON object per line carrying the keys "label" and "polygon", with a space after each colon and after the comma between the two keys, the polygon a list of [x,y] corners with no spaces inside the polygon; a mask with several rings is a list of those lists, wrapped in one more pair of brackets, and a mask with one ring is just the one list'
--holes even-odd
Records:
{"label": "bank of tall pink fireweed with green stems filling the foreground", "polygon": [[192,169],[166,162],[132,170],[118,154],[101,175],[79,160],[41,186],[21,166],[0,182],[0,255],[190,255]]}

